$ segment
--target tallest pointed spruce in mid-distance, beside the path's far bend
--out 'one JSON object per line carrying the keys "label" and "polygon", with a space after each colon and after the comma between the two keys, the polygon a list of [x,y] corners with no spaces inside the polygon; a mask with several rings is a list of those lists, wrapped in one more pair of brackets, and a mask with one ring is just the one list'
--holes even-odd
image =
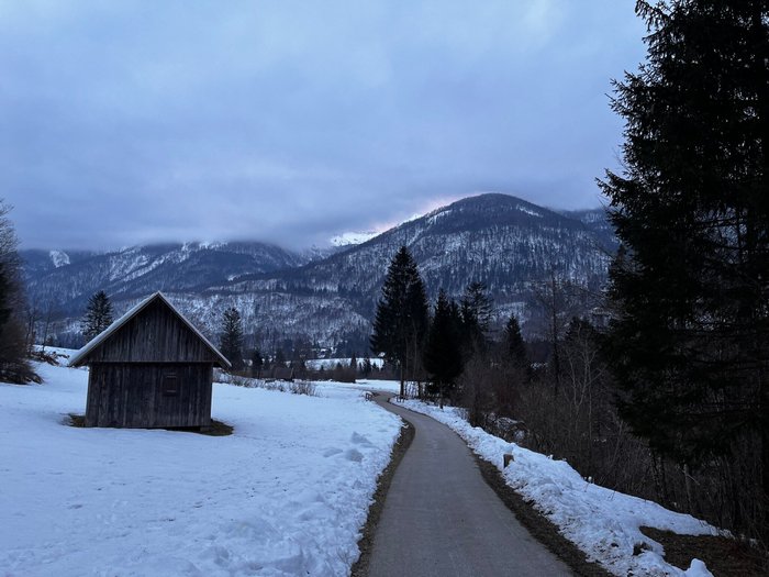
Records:
{"label": "tallest pointed spruce in mid-distance, beside the path's far bend", "polygon": [[371,351],[382,353],[399,371],[401,396],[406,377],[414,376],[427,323],[424,282],[409,249],[401,246],[388,267],[370,339]]}

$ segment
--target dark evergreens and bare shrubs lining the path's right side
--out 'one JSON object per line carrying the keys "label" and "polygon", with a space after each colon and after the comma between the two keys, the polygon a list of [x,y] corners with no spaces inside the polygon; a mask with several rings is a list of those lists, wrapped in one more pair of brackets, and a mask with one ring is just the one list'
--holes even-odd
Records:
{"label": "dark evergreens and bare shrubs lining the path's right side", "polygon": [[471,421],[766,551],[769,4],[638,1],[636,11],[647,58],[612,99],[623,169],[599,182],[621,243],[609,325],[564,319],[554,275],[547,362],[514,370],[499,344],[470,336],[461,303],[442,292],[427,314],[401,248],[371,346],[398,364],[401,395],[425,380]]}

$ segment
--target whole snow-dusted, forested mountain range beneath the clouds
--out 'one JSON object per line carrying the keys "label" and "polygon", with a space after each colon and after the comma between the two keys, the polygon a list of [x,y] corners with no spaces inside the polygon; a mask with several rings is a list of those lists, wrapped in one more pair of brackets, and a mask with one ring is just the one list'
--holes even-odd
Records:
{"label": "whole snow-dusted, forested mountain range beneath the clouds", "polygon": [[163,290],[215,340],[225,308],[266,351],[309,343],[363,351],[388,264],[409,247],[432,298],[484,282],[497,319],[516,313],[535,332],[537,291],[569,281],[600,290],[616,241],[602,209],[556,212],[506,195],[469,197],[359,244],[302,253],[257,242],[178,243],[108,253],[22,251],[27,296],[58,344],[79,346],[88,298],[104,290],[116,313]]}

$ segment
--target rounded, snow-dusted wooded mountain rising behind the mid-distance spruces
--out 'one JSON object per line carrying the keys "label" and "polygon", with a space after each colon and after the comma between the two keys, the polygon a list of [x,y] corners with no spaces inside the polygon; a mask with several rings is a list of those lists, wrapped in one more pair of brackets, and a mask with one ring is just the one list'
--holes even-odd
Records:
{"label": "rounded, snow-dusted wooded mountain rising behind the mid-distance spruces", "polygon": [[[441,287],[459,296],[470,281],[480,280],[489,287],[501,320],[531,303],[551,271],[558,279],[600,288],[614,238],[598,220],[583,223],[514,197],[483,195],[328,258],[275,275],[243,277],[209,292],[236,293],[253,302],[257,326],[277,326],[279,317],[327,323],[328,334],[312,331],[311,340],[353,333],[361,323],[369,330],[387,266],[401,245],[416,259],[431,298]],[[335,306],[325,310],[332,302]]]}

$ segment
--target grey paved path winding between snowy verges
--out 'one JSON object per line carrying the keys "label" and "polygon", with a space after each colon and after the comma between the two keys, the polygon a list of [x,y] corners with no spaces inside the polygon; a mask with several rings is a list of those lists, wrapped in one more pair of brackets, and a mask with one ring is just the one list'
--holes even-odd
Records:
{"label": "grey paved path winding between snowy verges", "polygon": [[469,448],[433,419],[377,402],[416,429],[384,501],[369,577],[572,575],[483,481]]}

